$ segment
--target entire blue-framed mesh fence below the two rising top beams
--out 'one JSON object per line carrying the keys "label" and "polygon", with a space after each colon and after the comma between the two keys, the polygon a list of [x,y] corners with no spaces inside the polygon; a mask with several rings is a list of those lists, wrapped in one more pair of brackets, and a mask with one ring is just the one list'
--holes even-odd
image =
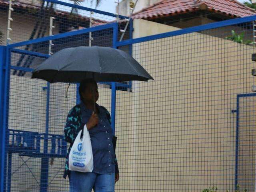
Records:
{"label": "entire blue-framed mesh fence below the two rising top beams", "polygon": [[[77,85],[65,97],[66,84],[30,76],[48,57],[50,40],[56,52],[84,45],[89,32],[95,42],[104,40],[100,46],[130,51],[155,79],[100,82],[100,102],[111,109],[113,130],[118,127],[118,191],[198,192],[210,186],[234,191],[237,184],[255,190],[255,94],[250,94],[255,20],[237,18],[121,42],[118,24],[110,23],[1,46],[0,191],[68,190],[62,180],[67,150],[62,129],[79,100]],[[252,43],[230,37],[233,30]],[[26,50],[28,44],[36,51]]]}

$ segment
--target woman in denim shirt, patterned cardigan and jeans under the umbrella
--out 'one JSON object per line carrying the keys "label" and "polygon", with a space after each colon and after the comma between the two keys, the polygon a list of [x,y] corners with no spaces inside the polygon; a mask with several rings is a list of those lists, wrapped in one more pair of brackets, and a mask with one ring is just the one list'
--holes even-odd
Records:
{"label": "woman in denim shirt, patterned cardigan and jeans under the umbrella", "polygon": [[[106,108],[96,104],[99,93],[94,80],[83,80],[79,94],[81,102],[70,110],[64,128],[64,138],[70,143],[64,178],[68,175],[70,192],[91,192],[92,188],[94,192],[114,192],[119,171],[114,152],[116,137],[110,126],[110,114]],[[68,155],[78,132],[85,124],[91,138],[94,168],[92,172],[70,171]]]}

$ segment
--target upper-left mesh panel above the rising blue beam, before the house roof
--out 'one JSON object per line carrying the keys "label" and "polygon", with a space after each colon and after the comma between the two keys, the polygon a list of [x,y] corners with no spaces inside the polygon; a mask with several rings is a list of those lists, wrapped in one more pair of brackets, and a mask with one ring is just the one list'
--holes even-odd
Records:
{"label": "upper-left mesh panel above the rising blue beam, before the house roof", "polygon": [[[8,23],[9,0],[0,2],[0,32],[2,32],[2,44],[6,44],[6,31]],[[90,11],[76,9],[69,6],[55,4],[48,1],[40,0],[16,0],[13,1],[12,19],[10,27],[10,38],[15,42],[22,42],[36,38],[49,36],[50,17],[54,17],[53,34],[60,34],[74,30],[80,30],[90,27]],[[99,26],[116,22],[115,16],[94,13],[92,15],[92,26]],[[119,21],[120,29],[124,29],[126,22]],[[119,32],[119,36],[121,32]],[[124,39],[129,38],[129,26],[125,33]],[[0,43],[1,44],[1,43]]]}

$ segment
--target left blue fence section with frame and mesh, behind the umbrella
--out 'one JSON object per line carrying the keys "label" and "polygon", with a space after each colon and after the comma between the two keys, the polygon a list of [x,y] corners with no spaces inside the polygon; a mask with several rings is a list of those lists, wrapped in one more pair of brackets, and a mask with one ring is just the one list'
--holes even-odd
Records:
{"label": "left blue fence section with frame and mesh, behind the umbrella", "polygon": [[[54,173],[50,173],[49,166],[54,162],[55,164],[64,162],[66,157],[67,143],[64,141],[62,127],[68,110],[80,102],[77,85],[70,85],[65,98],[62,95],[65,84],[50,85],[48,82],[32,80],[30,76],[33,69],[49,57],[45,54],[49,40],[54,42],[57,48],[54,51],[58,51],[64,46],[82,45],[80,40],[88,39],[89,32],[94,35],[95,41],[104,36],[105,45],[101,46],[116,47],[117,23],[1,46],[1,54],[5,56],[0,65],[2,72],[0,84],[3,93],[1,94],[1,143],[4,146],[1,148],[3,170],[1,191],[12,191],[22,171],[26,171],[31,174],[30,181],[27,182],[37,184],[37,186],[32,185],[32,188],[26,187],[26,190],[46,192],[58,174],[63,172],[63,166],[60,166],[55,170],[51,168]],[[36,52],[28,51],[24,49],[27,45],[36,45],[38,48]],[[20,62],[22,57],[24,61]],[[114,130],[116,86],[127,88],[128,85],[114,82],[99,83],[112,90],[110,95],[112,102],[109,107]],[[33,168],[34,166],[38,167]],[[26,186],[28,185],[27,183]],[[22,186],[20,187],[22,190]],[[64,188],[62,190],[65,190]]]}

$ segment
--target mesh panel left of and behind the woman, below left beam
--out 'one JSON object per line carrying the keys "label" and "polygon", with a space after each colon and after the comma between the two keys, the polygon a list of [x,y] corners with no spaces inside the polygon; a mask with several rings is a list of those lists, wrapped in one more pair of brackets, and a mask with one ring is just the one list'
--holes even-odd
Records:
{"label": "mesh panel left of and behind the woman, below left beam", "polygon": [[[93,45],[112,46],[113,30],[92,32]],[[18,47],[47,54],[48,41]],[[53,40],[53,52],[67,47],[88,46],[88,34]],[[79,102],[77,85],[31,79],[31,72],[45,58],[11,52],[8,129],[6,130],[5,191],[68,191],[62,178],[69,144],[63,128],[69,110]],[[68,90],[67,90],[68,88]],[[99,104],[111,109],[111,89],[99,84]],[[111,112],[111,111],[110,111]]]}

